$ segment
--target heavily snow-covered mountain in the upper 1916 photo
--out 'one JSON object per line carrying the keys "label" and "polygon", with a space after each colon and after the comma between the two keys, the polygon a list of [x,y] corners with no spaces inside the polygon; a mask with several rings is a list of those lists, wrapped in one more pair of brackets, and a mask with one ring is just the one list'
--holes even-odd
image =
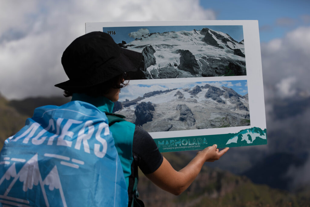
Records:
{"label": "heavily snow-covered mountain in the upper 1916 photo", "polygon": [[131,79],[246,75],[244,41],[212,29],[151,33],[124,43],[144,56]]}

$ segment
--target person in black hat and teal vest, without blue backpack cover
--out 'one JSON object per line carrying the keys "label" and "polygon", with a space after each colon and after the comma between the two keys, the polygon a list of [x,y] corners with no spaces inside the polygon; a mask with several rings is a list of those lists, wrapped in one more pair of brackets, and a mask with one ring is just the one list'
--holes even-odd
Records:
{"label": "person in black hat and teal vest, without blue backpack cover", "polygon": [[[75,39],[65,49],[61,62],[69,80],[55,86],[63,89],[66,97],[72,96],[72,101],[84,101],[112,113],[113,102],[128,84],[128,74],[143,64],[143,56],[119,47],[106,33],[91,32]],[[111,125],[110,131],[128,187],[128,206],[144,206],[137,199],[135,187],[138,166],[158,187],[179,195],[194,181],[205,162],[218,160],[228,151],[228,148],[219,151],[217,145],[209,146],[176,171],[143,128],[121,121]]]}

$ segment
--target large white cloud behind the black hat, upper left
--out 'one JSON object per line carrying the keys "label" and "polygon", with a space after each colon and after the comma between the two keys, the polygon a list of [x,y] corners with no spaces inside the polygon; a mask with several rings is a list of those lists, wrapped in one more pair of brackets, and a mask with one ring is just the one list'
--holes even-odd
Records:
{"label": "large white cloud behind the black hat, upper left", "polygon": [[85,22],[215,19],[198,0],[3,1],[1,8],[0,92],[9,99],[62,94],[54,87],[68,79],[62,52],[85,34]]}

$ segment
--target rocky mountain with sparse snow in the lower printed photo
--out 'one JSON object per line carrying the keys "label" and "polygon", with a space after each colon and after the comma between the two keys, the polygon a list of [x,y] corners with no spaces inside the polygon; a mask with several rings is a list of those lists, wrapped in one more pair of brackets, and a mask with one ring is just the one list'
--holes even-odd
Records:
{"label": "rocky mountain with sparse snow in the lower printed photo", "polygon": [[210,84],[148,92],[117,102],[114,112],[148,132],[250,125],[247,96]]}

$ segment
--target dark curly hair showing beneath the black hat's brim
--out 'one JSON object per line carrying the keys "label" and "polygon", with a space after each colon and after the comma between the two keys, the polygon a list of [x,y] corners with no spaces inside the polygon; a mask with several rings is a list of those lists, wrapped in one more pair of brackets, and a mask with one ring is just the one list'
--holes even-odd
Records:
{"label": "dark curly hair showing beneath the black hat's brim", "polygon": [[87,88],[75,88],[70,91],[64,91],[65,97],[70,97],[73,93],[84,93],[91,97],[100,97],[107,94],[111,88],[123,88],[129,84],[129,75],[128,73],[123,73],[114,78],[105,81],[104,83],[100,83]]}

